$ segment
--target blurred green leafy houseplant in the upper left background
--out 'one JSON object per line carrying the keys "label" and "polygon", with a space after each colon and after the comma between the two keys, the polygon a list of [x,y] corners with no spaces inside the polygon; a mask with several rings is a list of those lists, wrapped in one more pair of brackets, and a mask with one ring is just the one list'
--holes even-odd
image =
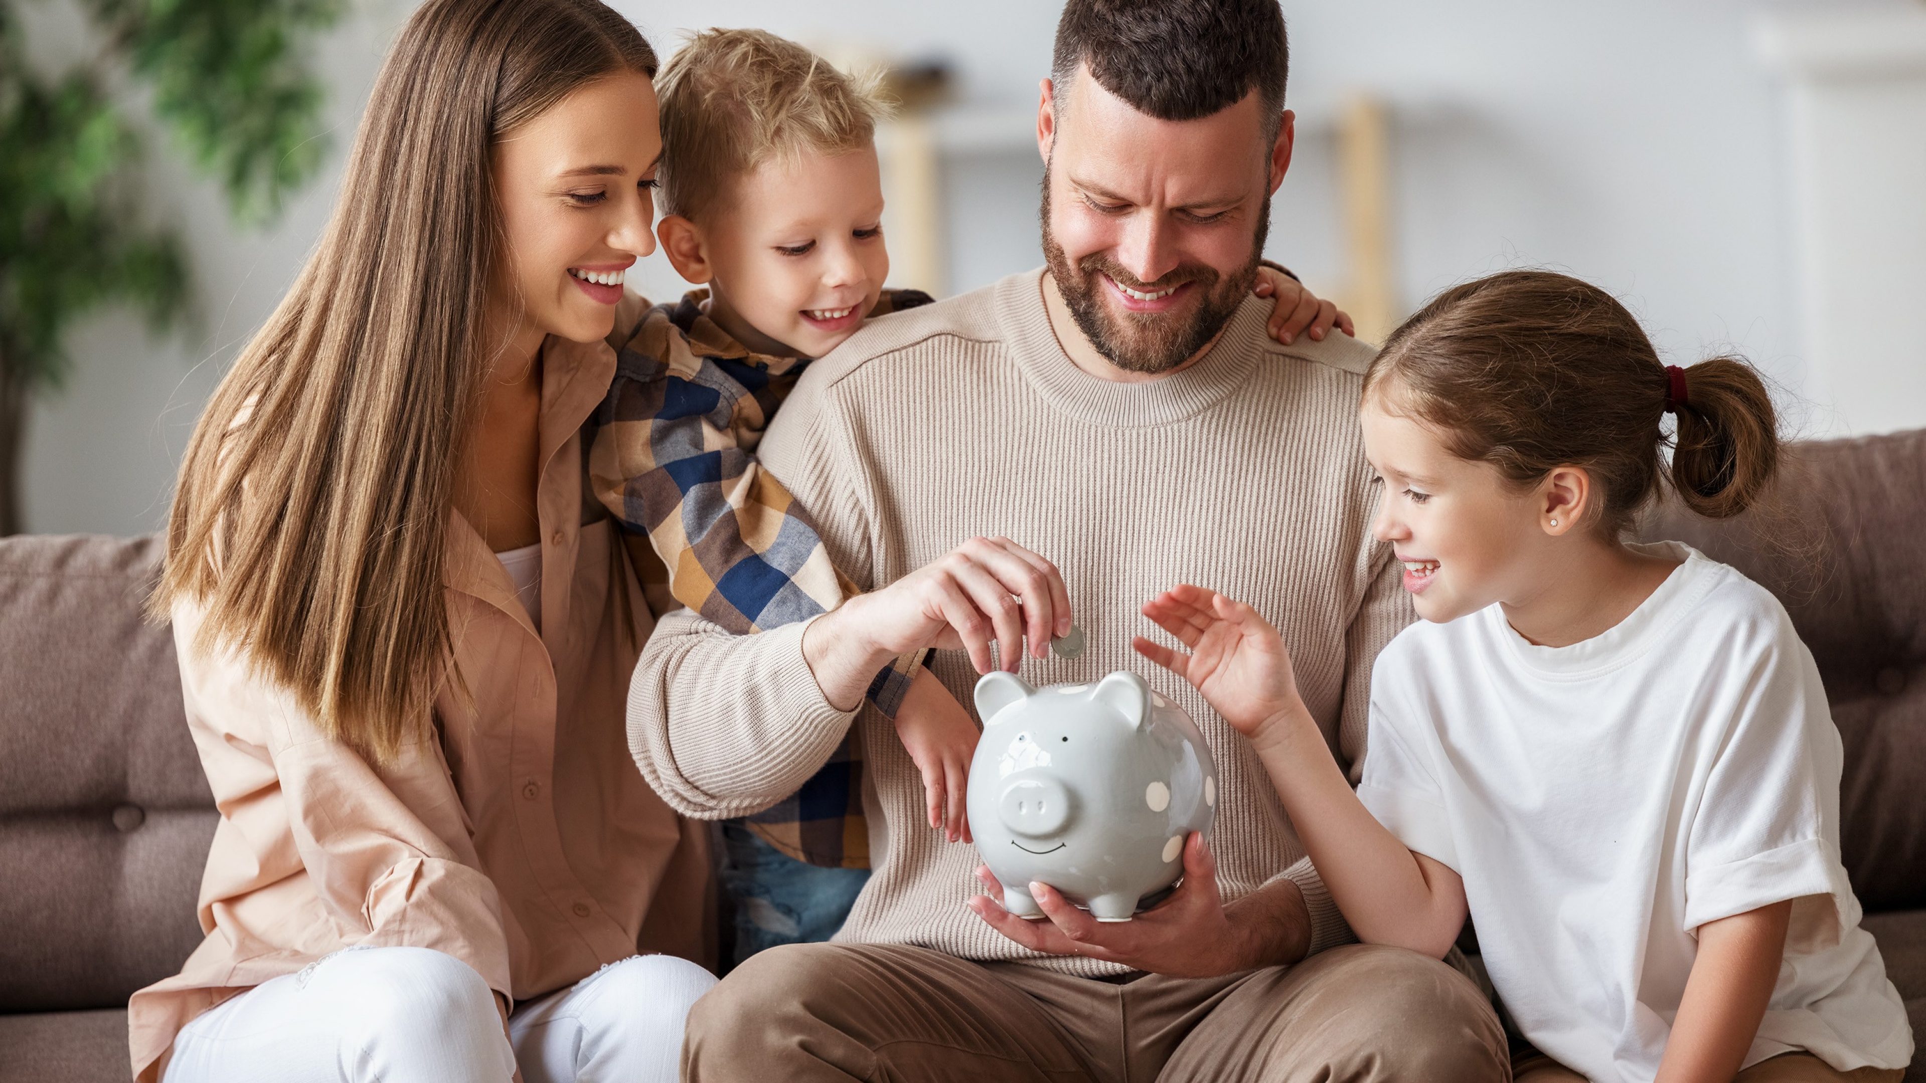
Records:
{"label": "blurred green leafy houseplant in the upper left background", "polygon": [[85,66],[29,64],[19,6],[0,0],[0,536],[21,528],[27,409],[65,372],[62,337],[104,304],[154,328],[193,297],[177,237],[146,222],[141,141],[112,89],[152,89],[175,143],[268,222],[322,162],[322,89],[306,66],[337,0],[77,0],[104,42]]}

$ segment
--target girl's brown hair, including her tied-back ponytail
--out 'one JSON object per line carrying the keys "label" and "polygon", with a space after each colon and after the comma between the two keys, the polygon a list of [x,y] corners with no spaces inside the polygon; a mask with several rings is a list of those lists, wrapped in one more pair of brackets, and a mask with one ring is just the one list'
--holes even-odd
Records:
{"label": "girl's brown hair, including her tied-back ponytail", "polygon": [[[1683,401],[1645,330],[1610,293],[1572,276],[1516,270],[1454,285],[1385,339],[1366,397],[1437,430],[1452,455],[1522,486],[1583,466],[1602,489],[1597,526],[1626,532],[1670,482],[1691,511],[1755,505],[1780,466],[1778,418],[1739,357],[1683,370]],[[1678,414],[1666,437],[1664,414]]]}

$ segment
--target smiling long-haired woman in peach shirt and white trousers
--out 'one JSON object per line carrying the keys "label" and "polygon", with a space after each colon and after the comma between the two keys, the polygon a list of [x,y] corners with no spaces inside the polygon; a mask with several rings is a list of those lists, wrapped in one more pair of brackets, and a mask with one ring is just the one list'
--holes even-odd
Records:
{"label": "smiling long-haired woman in peach shirt and white trousers", "polygon": [[152,611],[223,819],[143,1079],[674,1077],[713,977],[638,952],[699,952],[707,858],[622,755],[651,617],[582,491],[653,75],[597,0],[424,4],[200,418]]}

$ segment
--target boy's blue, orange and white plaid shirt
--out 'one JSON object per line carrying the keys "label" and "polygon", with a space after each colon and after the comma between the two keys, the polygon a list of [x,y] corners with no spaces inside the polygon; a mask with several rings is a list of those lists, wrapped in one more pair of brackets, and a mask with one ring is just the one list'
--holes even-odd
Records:
{"label": "boy's blue, orange and white plaid shirt", "polygon": [[[614,383],[591,422],[589,484],[624,530],[649,538],[676,601],[747,634],[828,613],[855,586],[830,565],[809,515],[755,461],[809,358],[751,353],[703,314],[707,297],[697,289],[649,308],[616,351]],[[926,293],[892,289],[871,316],[928,303]],[[896,717],[919,659],[876,674],[869,700],[884,715]],[[811,865],[869,867],[855,730],[801,790],[747,827]]]}

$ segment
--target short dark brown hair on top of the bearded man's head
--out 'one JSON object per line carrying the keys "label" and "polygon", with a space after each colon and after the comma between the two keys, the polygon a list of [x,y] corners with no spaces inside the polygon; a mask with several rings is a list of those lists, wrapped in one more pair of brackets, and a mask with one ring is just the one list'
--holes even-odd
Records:
{"label": "short dark brown hair on top of the bearded man's head", "polygon": [[1290,44],[1277,0],[1069,0],[1050,64],[1057,100],[1080,64],[1142,114],[1198,119],[1258,91],[1275,131]]}

